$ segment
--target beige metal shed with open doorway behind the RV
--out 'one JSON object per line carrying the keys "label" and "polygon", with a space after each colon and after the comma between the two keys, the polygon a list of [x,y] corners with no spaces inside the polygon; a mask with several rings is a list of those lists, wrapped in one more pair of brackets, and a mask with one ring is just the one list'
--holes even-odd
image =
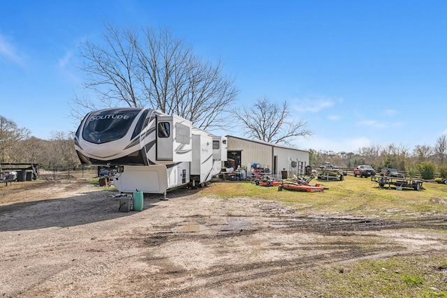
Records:
{"label": "beige metal shed with open doorway behind the RV", "polygon": [[259,140],[249,140],[243,137],[226,135],[227,161],[226,167],[246,168],[247,172],[256,164],[258,167],[268,169],[272,176],[281,178],[284,171],[288,177],[302,175],[305,167],[309,165],[309,151],[271,144]]}

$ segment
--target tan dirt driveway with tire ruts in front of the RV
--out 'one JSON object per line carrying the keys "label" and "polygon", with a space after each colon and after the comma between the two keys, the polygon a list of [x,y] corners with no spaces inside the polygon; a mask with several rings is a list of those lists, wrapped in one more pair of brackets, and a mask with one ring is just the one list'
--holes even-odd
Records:
{"label": "tan dirt driveway with tire ruts in front of the RV", "polygon": [[116,195],[82,180],[0,188],[0,297],[253,297],[272,276],[447,248],[441,217],[300,216],[193,190],[119,212]]}

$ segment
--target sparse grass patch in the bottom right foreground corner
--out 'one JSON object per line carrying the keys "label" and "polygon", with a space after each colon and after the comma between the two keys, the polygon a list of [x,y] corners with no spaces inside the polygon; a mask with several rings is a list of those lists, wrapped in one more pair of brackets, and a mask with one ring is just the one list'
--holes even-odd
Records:
{"label": "sparse grass patch in the bottom right foreground corner", "polygon": [[291,272],[243,288],[247,297],[447,297],[447,257],[393,257]]}

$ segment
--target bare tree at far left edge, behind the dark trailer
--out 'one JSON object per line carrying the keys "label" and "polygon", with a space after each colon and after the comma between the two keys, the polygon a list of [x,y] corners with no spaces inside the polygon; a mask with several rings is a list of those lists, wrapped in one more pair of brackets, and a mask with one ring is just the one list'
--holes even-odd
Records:
{"label": "bare tree at far left edge, behind the dark trailer", "polygon": [[0,161],[7,162],[10,159],[10,149],[29,137],[27,128],[19,128],[14,121],[0,115]]}

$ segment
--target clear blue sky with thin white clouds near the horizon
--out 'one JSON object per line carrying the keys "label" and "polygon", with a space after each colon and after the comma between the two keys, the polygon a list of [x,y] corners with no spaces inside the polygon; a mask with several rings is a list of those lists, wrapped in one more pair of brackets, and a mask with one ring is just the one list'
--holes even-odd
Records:
{"label": "clear blue sky with thin white clouds near the horizon", "polygon": [[238,105],[286,101],[307,121],[301,149],[413,149],[447,134],[447,1],[0,3],[0,115],[36,137],[77,128],[78,46],[101,42],[104,24],[168,27],[221,59]]}

